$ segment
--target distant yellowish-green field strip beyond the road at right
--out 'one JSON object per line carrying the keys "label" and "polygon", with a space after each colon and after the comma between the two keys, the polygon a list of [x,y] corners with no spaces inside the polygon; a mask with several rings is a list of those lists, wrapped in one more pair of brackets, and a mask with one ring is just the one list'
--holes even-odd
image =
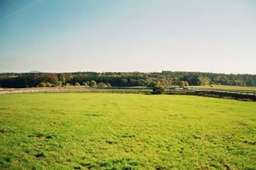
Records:
{"label": "distant yellowish-green field strip beyond the road at right", "polygon": [[[243,87],[243,86],[236,86],[236,85],[212,85],[212,88],[219,88],[219,89],[232,89],[232,90],[256,90],[256,87]],[[191,85],[188,88],[192,88]],[[209,85],[193,85],[193,88],[211,88]]]}

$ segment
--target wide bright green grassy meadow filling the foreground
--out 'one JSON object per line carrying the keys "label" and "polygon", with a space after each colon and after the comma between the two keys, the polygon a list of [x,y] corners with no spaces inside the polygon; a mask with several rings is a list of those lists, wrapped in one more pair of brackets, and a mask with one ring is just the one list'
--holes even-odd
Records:
{"label": "wide bright green grassy meadow filling the foreground", "polygon": [[256,169],[256,102],[0,96],[0,169]]}

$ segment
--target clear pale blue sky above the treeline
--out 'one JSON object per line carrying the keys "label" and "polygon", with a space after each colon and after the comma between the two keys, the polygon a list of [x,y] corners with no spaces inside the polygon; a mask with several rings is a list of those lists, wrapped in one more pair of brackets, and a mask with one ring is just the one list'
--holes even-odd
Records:
{"label": "clear pale blue sky above the treeline", "polygon": [[0,72],[256,74],[255,0],[0,0]]}

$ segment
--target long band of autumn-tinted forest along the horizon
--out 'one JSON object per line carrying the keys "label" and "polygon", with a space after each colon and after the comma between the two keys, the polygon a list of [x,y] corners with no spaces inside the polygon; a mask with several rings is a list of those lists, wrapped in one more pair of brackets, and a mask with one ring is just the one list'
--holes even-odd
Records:
{"label": "long band of autumn-tinted forest along the horizon", "polygon": [[255,86],[255,74],[217,74],[208,72],[72,72],[1,73],[1,88],[56,87],[69,85],[141,86],[147,85],[240,85]]}

